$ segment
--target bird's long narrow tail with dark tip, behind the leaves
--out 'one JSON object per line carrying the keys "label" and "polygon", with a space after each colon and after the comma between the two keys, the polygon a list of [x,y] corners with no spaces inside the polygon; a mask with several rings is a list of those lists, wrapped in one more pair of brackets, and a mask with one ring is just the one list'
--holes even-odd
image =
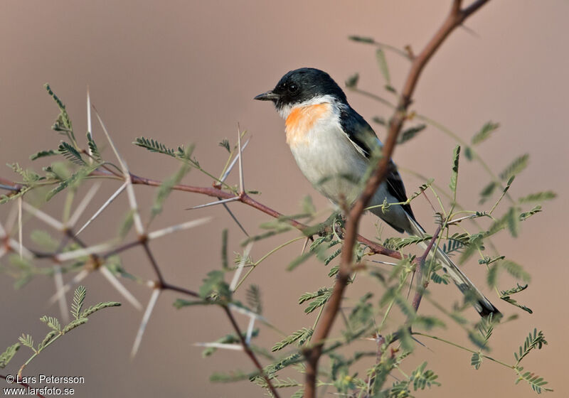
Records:
{"label": "bird's long narrow tail with dark tip, behind the leaves", "polygon": [[[419,225],[419,223],[408,215],[409,222],[411,225],[411,231],[409,233],[416,235],[418,237],[424,237],[426,234],[425,230]],[[425,249],[427,248],[427,243],[423,242],[422,247]],[[482,317],[489,316],[493,314],[493,318],[497,319],[501,316],[500,311],[496,307],[492,305],[492,303],[482,294],[476,286],[468,279],[466,275],[459,269],[459,267],[452,262],[452,260],[447,256],[445,252],[442,251],[440,247],[437,247],[437,251],[435,252],[435,259],[439,260],[442,263],[442,269],[449,274],[454,284],[458,286],[458,289],[462,291],[462,294],[465,294],[469,297],[469,300],[472,300],[474,308]]]}

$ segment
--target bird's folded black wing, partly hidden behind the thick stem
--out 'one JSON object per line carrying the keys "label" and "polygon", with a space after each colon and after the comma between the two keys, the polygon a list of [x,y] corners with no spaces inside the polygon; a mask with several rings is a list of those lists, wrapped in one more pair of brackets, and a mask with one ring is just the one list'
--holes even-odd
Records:
{"label": "bird's folded black wing, partly hidden behind the thick stem", "polygon": [[[366,122],[366,119],[363,119],[363,117],[353,109],[341,109],[340,121],[344,133],[346,133],[348,139],[362,156],[369,158],[373,151],[373,146],[382,146],[376,132],[373,131],[368,122]],[[393,195],[393,198],[398,202],[405,202],[407,200],[405,185],[403,185],[403,180],[397,171],[397,166],[395,166],[392,160],[389,161],[389,171],[385,178],[385,185],[389,193]],[[411,206],[409,204],[401,206],[405,212],[415,220]]]}

